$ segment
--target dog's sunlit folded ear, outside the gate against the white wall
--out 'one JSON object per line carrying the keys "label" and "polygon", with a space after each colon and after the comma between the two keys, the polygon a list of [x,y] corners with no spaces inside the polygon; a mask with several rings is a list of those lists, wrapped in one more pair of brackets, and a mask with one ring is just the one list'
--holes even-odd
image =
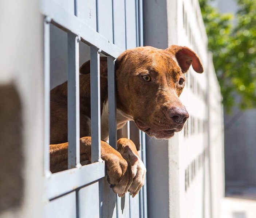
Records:
{"label": "dog's sunlit folded ear, outside the gate against the white wall", "polygon": [[175,55],[183,73],[188,71],[191,64],[197,73],[204,72],[200,58],[190,48],[185,46],[171,45],[166,50]]}

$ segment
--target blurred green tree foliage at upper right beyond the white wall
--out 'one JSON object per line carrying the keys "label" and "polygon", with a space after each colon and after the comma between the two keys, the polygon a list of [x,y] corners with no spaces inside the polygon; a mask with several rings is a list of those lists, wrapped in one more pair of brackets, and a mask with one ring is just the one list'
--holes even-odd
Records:
{"label": "blurred green tree foliage at upper right beyond the white wall", "polygon": [[256,0],[237,0],[235,22],[209,0],[199,2],[226,110],[256,108]]}

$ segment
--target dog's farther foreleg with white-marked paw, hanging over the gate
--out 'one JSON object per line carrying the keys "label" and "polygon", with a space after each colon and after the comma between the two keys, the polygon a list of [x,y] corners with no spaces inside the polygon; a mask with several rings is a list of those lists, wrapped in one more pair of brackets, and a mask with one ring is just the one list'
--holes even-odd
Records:
{"label": "dog's farther foreleg with white-marked paw, hanging over the gate", "polygon": [[133,174],[133,183],[128,191],[133,197],[138,194],[145,182],[146,167],[137,152],[133,141],[127,138],[120,138],[117,141],[117,150],[126,157],[131,163],[131,171]]}

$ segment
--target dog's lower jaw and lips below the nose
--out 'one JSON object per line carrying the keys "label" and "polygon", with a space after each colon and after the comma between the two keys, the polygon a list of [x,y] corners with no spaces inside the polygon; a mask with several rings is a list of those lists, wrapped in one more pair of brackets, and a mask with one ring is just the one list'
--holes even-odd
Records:
{"label": "dog's lower jaw and lips below the nose", "polygon": [[163,130],[155,130],[152,128],[148,128],[146,124],[144,124],[140,120],[134,120],[135,124],[138,126],[138,128],[145,132],[148,136],[155,137],[158,139],[168,139],[174,136],[175,132],[180,131],[181,129],[163,129]]}

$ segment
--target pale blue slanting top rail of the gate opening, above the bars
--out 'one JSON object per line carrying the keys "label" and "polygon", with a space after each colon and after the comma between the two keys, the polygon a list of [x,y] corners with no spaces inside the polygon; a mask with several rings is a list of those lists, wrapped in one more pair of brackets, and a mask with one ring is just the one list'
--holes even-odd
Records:
{"label": "pale blue slanting top rail of the gate opening, above the bars", "polygon": [[53,24],[80,36],[85,43],[102,49],[102,53],[105,55],[116,58],[123,51],[52,0],[41,1],[40,10],[45,16],[52,19]]}

